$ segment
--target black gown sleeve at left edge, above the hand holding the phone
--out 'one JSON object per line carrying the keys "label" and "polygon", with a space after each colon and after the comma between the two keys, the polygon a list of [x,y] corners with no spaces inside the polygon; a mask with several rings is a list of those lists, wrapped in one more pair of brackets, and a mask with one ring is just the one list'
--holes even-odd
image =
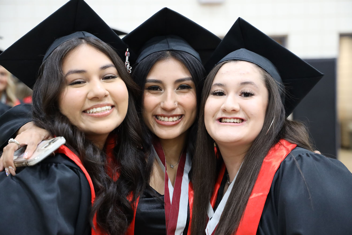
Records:
{"label": "black gown sleeve at left edge, above the hand holding the phone", "polygon": [[27,122],[32,121],[32,105],[19,104],[0,116],[0,150],[2,150],[10,138]]}

